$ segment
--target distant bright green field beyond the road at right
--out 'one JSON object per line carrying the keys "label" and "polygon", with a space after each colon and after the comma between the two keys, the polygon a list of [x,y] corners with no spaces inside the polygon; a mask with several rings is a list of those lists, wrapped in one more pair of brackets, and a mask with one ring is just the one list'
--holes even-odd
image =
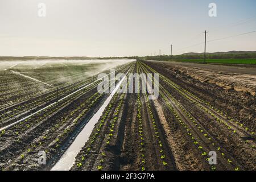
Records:
{"label": "distant bright green field beyond the road at right", "polygon": [[[175,60],[181,62],[193,62],[203,63],[204,60],[186,59],[186,60]],[[210,59],[207,63],[222,63],[222,64],[256,64],[256,59]]]}

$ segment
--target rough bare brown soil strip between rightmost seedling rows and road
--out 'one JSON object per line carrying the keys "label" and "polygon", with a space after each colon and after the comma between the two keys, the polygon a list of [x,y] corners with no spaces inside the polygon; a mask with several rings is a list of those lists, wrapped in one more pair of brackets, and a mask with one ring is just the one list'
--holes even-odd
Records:
{"label": "rough bare brown soil strip between rightmost seedling rows and road", "polygon": [[[238,118],[243,125],[249,127],[251,131],[255,131],[255,122],[247,122],[251,121],[249,118],[253,117],[253,115],[255,116],[255,110],[251,109],[255,107],[255,97],[237,93],[234,90],[228,90],[227,92],[216,85],[207,84],[206,82],[200,82],[191,77],[184,76],[179,69],[167,67],[164,64],[152,64],[150,61],[146,62],[146,64],[156,71],[161,72],[163,76],[171,78],[172,81],[185,90],[189,90],[190,93],[210,102],[214,107],[220,108],[230,118]],[[244,113],[242,114],[242,112]],[[244,117],[241,117],[241,114]]]}

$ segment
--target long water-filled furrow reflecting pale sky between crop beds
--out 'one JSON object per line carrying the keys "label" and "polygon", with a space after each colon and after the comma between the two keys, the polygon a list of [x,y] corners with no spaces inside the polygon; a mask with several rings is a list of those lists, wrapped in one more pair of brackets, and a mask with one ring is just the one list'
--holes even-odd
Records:
{"label": "long water-filled furrow reflecting pale sky between crop beds", "polygon": [[75,158],[77,154],[80,152],[82,147],[85,145],[85,143],[89,139],[89,136],[92,133],[94,126],[98,122],[98,119],[100,119],[106,106],[108,106],[110,100],[114,96],[115,92],[117,92],[123,80],[125,80],[125,77],[123,77],[122,80],[118,82],[117,86],[115,86],[115,89],[110,94],[110,96],[106,99],[104,104],[100,107],[97,113],[93,115],[93,117],[85,125],[84,129],[82,129],[82,131],[79,133],[79,135],[77,135],[76,139],[73,141],[71,146],[69,146],[68,150],[65,151],[63,156],[61,156],[60,160],[55,164],[55,166],[53,166],[51,171],[68,171],[69,169],[71,169],[73,164],[75,164]]}

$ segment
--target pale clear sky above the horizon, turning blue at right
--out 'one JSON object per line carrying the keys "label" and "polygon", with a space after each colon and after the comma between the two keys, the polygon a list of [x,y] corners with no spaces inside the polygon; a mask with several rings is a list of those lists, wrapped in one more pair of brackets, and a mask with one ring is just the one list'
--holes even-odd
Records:
{"label": "pale clear sky above the horizon, turning blue at right", "polygon": [[[204,42],[205,30],[208,40],[255,31],[255,7],[255,0],[0,0],[0,56],[145,56],[169,54],[171,43],[175,55],[203,52],[203,44],[189,46]],[[207,46],[233,50],[256,51],[256,32]]]}

